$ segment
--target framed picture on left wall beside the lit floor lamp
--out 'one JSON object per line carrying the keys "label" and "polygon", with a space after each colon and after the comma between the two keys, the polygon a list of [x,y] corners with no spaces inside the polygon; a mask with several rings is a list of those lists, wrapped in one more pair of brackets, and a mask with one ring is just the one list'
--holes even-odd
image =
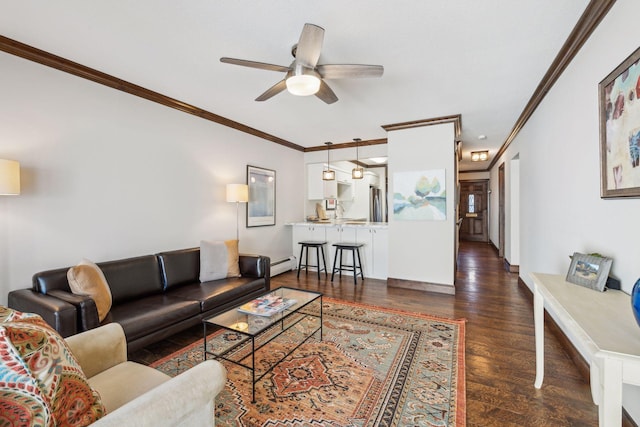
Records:
{"label": "framed picture on left wall beside the lit floor lamp", "polygon": [[247,166],[247,227],[276,225],[276,171]]}

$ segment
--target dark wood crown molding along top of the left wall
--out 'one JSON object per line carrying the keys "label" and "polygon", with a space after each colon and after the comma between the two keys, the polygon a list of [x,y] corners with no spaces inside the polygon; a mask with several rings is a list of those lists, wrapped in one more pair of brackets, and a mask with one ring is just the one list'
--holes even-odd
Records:
{"label": "dark wood crown molding along top of the left wall", "polygon": [[179,101],[174,98],[170,98],[158,92],[146,89],[142,86],[130,83],[128,81],[119,79],[112,75],[103,73],[101,71],[89,68],[77,62],[70,61],[66,58],[54,55],[44,50],[35,48],[33,46],[26,45],[16,40],[12,40],[8,37],[0,35],[0,51],[9,53],[11,55],[19,56],[29,61],[37,62],[47,67],[55,68],[65,73],[73,74],[83,79],[91,80],[95,83],[117,89],[122,92],[129,93],[140,98],[144,98],[148,101],[156,102],[169,108],[173,108],[184,113],[198,116],[202,119],[209,120],[221,124],[223,126],[230,127],[240,132],[248,133],[258,138],[266,139],[267,141],[274,142],[276,144],[284,145],[285,147],[292,148],[298,151],[304,151],[304,147],[294,144],[293,142],[286,141],[277,136],[262,132],[258,129],[228,119],[226,117],[219,116],[210,111],[203,110],[194,105],[187,104],[186,102]]}

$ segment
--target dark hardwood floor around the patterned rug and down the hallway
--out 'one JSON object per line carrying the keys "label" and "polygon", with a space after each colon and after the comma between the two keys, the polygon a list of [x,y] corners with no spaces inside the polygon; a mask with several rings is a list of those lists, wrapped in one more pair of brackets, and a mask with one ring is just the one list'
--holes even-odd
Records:
{"label": "dark hardwood floor around the patterned rug and down the hallway", "polygon": [[[318,290],[324,295],[383,307],[465,318],[468,426],[597,426],[598,410],[588,382],[553,333],[545,331],[545,379],[537,390],[531,293],[508,273],[486,243],[460,246],[456,295],[387,288],[343,276],[331,283],[323,276],[295,272],[272,279],[272,287]],[[545,328],[546,329],[546,328]],[[151,363],[196,339],[201,327],[178,334],[132,355]]]}

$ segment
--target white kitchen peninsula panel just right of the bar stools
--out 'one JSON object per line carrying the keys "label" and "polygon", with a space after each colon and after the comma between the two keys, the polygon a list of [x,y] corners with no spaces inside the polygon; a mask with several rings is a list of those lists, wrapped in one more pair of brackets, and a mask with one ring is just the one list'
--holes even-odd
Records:
{"label": "white kitchen peninsula panel just right of the bar stools", "polygon": [[356,241],[360,248],[364,277],[387,280],[389,232],[386,228],[361,227],[357,229]]}

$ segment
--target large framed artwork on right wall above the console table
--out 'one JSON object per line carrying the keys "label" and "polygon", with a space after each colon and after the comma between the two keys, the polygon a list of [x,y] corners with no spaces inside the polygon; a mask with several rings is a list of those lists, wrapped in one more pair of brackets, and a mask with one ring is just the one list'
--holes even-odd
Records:
{"label": "large framed artwork on right wall above the console table", "polygon": [[640,197],[640,48],[598,85],[600,197]]}

